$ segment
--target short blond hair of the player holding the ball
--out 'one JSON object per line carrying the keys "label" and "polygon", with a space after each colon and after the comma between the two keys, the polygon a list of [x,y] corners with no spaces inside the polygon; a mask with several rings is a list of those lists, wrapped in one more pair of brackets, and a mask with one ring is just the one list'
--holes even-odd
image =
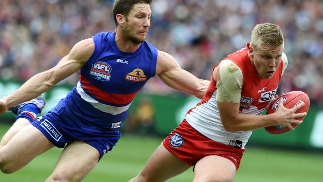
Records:
{"label": "short blond hair of the player holding the ball", "polygon": [[284,37],[278,25],[262,23],[253,28],[250,43],[255,50],[261,46],[278,47],[284,44]]}

